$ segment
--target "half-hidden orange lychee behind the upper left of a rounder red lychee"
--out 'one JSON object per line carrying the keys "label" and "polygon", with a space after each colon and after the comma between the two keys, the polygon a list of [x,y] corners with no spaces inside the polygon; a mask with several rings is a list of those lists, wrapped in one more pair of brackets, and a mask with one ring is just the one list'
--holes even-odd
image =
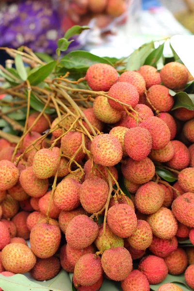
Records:
{"label": "half-hidden orange lychee behind the upper left of a rounder red lychee", "polygon": [[70,211],[64,211],[64,210],[61,211],[61,213],[59,214],[59,226],[60,226],[62,232],[65,233],[69,222],[75,216],[78,216],[80,214],[85,214],[85,213],[86,213],[86,211],[82,207],[79,207],[77,209],[70,210]]}

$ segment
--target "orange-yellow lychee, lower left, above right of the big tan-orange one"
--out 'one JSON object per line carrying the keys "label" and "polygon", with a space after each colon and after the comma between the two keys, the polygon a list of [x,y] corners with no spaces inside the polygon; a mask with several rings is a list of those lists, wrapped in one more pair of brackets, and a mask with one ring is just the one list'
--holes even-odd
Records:
{"label": "orange-yellow lychee, lower left, above right of the big tan-orange one", "polygon": [[61,231],[58,226],[40,223],[33,226],[30,243],[33,253],[41,259],[53,256],[61,241]]}

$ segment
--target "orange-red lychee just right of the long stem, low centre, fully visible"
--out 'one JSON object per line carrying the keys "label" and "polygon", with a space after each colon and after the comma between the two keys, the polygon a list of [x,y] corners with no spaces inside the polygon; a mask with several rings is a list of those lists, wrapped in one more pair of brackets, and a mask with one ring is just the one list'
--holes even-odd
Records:
{"label": "orange-red lychee just right of the long stem, low centre, fully visible", "polygon": [[129,205],[118,204],[108,210],[107,223],[114,234],[127,238],[137,227],[137,217]]}

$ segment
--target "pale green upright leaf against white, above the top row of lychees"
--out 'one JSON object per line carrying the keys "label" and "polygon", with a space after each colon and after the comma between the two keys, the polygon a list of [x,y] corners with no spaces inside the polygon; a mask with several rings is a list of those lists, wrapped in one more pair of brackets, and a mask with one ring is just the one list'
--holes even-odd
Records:
{"label": "pale green upright leaf against white, above the top row of lychees", "polygon": [[152,41],[141,46],[139,49],[134,50],[129,56],[126,69],[130,71],[138,70],[142,65],[144,65],[147,56],[153,49],[154,42]]}

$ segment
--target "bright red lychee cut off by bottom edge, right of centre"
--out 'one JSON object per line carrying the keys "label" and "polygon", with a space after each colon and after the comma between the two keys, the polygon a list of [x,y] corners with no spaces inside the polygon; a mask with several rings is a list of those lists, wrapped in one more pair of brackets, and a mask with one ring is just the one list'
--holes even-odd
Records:
{"label": "bright red lychee cut off by bottom edge, right of centre", "polygon": [[139,270],[133,270],[121,281],[121,288],[123,291],[149,291],[149,282],[146,275],[142,274]]}

